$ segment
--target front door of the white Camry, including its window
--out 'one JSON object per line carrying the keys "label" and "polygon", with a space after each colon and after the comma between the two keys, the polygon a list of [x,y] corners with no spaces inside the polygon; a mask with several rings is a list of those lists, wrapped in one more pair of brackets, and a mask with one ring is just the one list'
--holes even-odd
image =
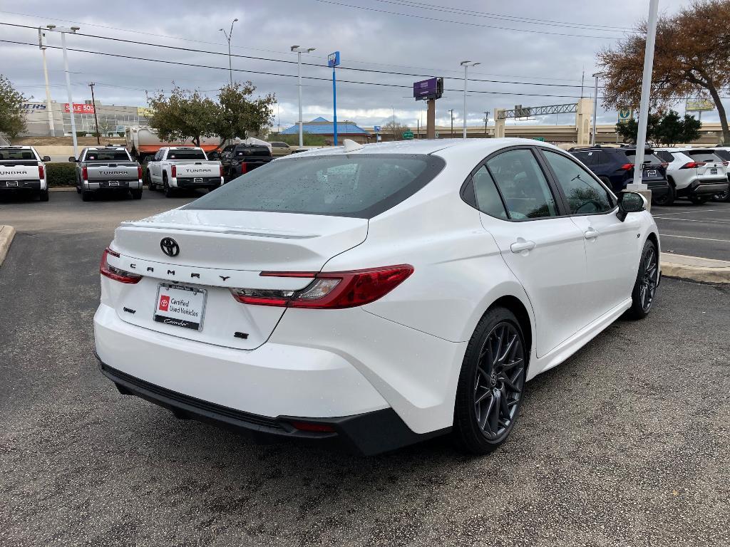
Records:
{"label": "front door of the white Camry, including its window", "polygon": [[582,292],[591,322],[631,295],[639,265],[639,221],[636,215],[618,220],[612,195],[568,155],[547,149],[542,149],[542,155],[572,221],[583,234],[586,276]]}

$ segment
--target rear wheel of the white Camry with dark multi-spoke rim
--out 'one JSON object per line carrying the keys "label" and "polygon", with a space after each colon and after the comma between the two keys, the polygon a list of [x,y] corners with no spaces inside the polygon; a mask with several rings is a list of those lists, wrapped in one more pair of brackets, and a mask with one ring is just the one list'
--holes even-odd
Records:
{"label": "rear wheel of the white Camry with dark multi-spoke rim", "polygon": [[487,311],[466,346],[456,387],[452,435],[462,449],[488,454],[507,440],[522,403],[528,355],[515,314]]}

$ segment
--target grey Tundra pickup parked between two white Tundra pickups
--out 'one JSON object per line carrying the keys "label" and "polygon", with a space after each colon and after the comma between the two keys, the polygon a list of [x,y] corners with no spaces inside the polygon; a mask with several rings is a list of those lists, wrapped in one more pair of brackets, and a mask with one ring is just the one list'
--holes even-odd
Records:
{"label": "grey Tundra pickup parked between two white Tundra pickups", "polygon": [[83,201],[91,201],[99,191],[129,192],[142,198],[142,167],[132,160],[124,147],[89,147],[81,151],[76,163],[76,191]]}

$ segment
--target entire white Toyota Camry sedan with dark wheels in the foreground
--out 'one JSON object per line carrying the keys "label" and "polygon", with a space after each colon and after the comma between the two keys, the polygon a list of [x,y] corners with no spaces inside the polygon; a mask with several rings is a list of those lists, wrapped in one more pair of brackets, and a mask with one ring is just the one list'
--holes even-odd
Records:
{"label": "entire white Toyota Camry sedan with dark wheels in the foreground", "polygon": [[363,454],[447,432],[496,449],[525,382],[645,317],[660,281],[645,199],[524,139],[280,158],[123,222],[100,269],[121,393]]}

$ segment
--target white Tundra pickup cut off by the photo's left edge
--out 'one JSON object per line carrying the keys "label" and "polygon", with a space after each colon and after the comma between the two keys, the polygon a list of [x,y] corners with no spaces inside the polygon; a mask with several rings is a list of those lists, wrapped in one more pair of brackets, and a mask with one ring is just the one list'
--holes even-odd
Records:
{"label": "white Tundra pickup cut off by the photo's left edge", "polygon": [[48,201],[45,161],[50,158],[41,158],[34,147],[0,147],[0,193],[31,193]]}

